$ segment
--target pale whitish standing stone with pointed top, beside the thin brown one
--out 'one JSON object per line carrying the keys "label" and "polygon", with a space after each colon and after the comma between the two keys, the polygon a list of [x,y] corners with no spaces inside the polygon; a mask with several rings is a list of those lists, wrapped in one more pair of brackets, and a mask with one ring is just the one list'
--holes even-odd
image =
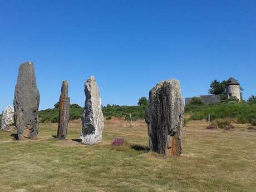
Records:
{"label": "pale whitish standing stone with pointed top, beside the thin brown one", "polygon": [[93,145],[101,142],[102,130],[104,129],[100,92],[93,76],[85,82],[85,96],[80,138],[84,144]]}

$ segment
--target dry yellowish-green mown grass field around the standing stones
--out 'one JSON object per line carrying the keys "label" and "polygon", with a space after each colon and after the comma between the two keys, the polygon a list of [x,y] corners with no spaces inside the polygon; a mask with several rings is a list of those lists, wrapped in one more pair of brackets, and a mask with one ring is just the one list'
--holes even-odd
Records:
{"label": "dry yellowish-green mown grass field around the standing stones", "polygon": [[[77,142],[80,122],[68,139],[56,140],[57,124],[41,124],[36,140],[16,141],[0,132],[0,191],[256,191],[256,131],[206,130],[204,121],[188,122],[183,155],[166,158],[147,151],[143,121],[105,122],[99,145]],[[126,144],[111,146],[115,137]]]}

